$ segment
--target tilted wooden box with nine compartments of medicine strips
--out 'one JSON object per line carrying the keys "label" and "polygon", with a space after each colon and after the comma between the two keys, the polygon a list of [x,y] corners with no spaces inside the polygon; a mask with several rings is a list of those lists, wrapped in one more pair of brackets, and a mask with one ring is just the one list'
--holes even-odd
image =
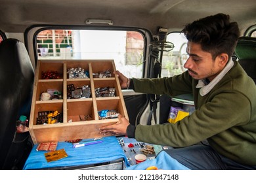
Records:
{"label": "tilted wooden box with nine compartments of medicine strips", "polygon": [[[70,69],[79,67],[89,72],[89,78],[70,78]],[[107,70],[111,71],[109,77],[95,77],[97,73]],[[57,78],[45,77],[45,73],[48,72],[49,75],[53,71],[58,73]],[[118,76],[114,75],[113,71],[116,71],[113,60],[38,61],[29,124],[33,143],[102,137],[98,133],[98,128],[114,124],[118,119],[100,118],[98,112],[101,110],[116,110],[128,119]],[[91,96],[75,99],[68,97],[70,93],[68,86],[72,84],[75,88],[89,86]],[[96,97],[97,88],[115,88],[115,95]],[[41,93],[50,89],[58,90],[62,93],[62,97],[57,100],[42,101]],[[38,124],[41,114],[56,110],[62,114],[62,118],[59,118],[62,122]],[[84,120],[83,116],[91,116],[91,118]]]}

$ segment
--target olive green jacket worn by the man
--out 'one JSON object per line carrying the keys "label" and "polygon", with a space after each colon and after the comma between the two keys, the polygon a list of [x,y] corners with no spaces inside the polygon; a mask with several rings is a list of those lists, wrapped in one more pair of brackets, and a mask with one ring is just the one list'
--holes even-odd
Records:
{"label": "olive green jacket worn by the man", "polygon": [[196,110],[176,124],[137,125],[137,141],[184,147],[207,139],[219,154],[256,165],[256,86],[240,64],[206,95],[188,72],[171,78],[133,78],[135,92],[171,96],[193,93]]}

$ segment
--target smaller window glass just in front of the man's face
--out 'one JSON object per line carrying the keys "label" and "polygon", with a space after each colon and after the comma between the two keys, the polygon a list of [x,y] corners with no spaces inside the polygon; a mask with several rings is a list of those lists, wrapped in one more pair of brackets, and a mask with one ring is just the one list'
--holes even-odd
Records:
{"label": "smaller window glass just in front of the man's face", "polygon": [[183,33],[169,33],[166,41],[174,44],[173,50],[163,52],[161,77],[179,75],[186,71],[183,65],[188,59],[186,54],[187,39]]}

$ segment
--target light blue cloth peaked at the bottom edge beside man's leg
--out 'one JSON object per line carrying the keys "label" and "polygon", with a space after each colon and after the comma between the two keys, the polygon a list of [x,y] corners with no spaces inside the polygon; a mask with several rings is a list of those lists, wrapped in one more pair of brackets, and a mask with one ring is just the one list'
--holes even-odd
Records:
{"label": "light blue cloth peaked at the bottom edge beside man's leg", "polygon": [[189,170],[179,163],[176,159],[171,158],[169,154],[161,151],[155,159],[148,159],[137,165],[127,167],[126,170],[146,170],[146,168],[155,166],[162,170]]}

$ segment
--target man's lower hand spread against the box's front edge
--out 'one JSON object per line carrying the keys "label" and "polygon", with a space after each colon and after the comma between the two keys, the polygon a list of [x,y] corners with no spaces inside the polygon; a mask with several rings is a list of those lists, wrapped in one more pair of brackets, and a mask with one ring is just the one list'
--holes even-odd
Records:
{"label": "man's lower hand spread against the box's front edge", "polygon": [[98,130],[100,131],[99,133],[103,135],[126,135],[126,130],[129,124],[129,121],[119,114],[118,122],[116,124],[100,127]]}

